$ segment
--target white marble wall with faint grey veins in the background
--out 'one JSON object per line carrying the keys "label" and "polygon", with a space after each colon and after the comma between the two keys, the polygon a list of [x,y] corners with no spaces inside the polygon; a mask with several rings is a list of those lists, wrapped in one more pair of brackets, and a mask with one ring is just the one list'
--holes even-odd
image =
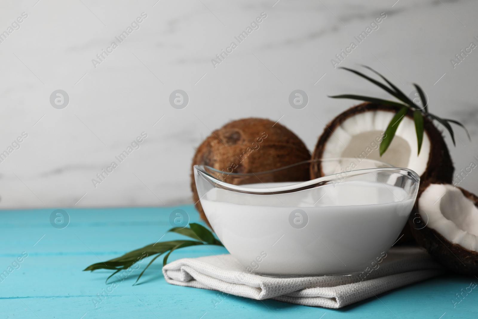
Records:
{"label": "white marble wall with faint grey veins in the background", "polygon": [[[456,167],[478,156],[478,49],[455,68],[450,62],[478,44],[476,1],[37,1],[0,4],[0,32],[28,15],[0,43],[0,151],[28,134],[0,163],[2,208],[190,202],[195,147],[243,117],[282,117],[312,149],[324,123],[355,104],[327,95],[386,97],[331,64],[381,12],[379,29],[340,66],[372,66],[406,92],[419,83],[432,112],[472,134],[470,143],[456,129],[456,147],[447,137]],[[139,29],[95,67],[92,59],[142,12]],[[211,59],[261,12],[259,29],[215,68]],[[49,100],[57,89],[70,99],[61,110]],[[169,104],[176,89],[190,98],[185,109]],[[310,98],[303,110],[288,103],[294,89]],[[95,188],[92,178],[141,132],[140,148]],[[460,185],[478,192],[477,177]]]}

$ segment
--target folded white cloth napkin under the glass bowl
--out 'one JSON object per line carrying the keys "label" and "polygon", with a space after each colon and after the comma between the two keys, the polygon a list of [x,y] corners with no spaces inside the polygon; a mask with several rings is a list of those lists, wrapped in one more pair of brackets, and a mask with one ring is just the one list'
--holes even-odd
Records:
{"label": "folded white cloth napkin under the glass bowl", "polygon": [[178,286],[257,300],[342,308],[444,272],[422,248],[391,248],[379,260],[361,274],[269,276],[250,274],[230,254],[221,254],[176,260],[163,267],[163,274],[168,283]]}

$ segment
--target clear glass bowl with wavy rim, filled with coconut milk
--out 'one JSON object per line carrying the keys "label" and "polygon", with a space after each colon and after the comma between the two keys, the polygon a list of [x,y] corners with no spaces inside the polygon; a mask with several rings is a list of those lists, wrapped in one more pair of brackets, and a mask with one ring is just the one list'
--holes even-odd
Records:
{"label": "clear glass bowl with wavy rim, filled with coconut milk", "polygon": [[[336,174],[290,180],[318,164]],[[365,271],[397,240],[420,182],[410,169],[361,158],[248,174],[195,165],[194,176],[219,240],[250,273],[267,275]]]}

